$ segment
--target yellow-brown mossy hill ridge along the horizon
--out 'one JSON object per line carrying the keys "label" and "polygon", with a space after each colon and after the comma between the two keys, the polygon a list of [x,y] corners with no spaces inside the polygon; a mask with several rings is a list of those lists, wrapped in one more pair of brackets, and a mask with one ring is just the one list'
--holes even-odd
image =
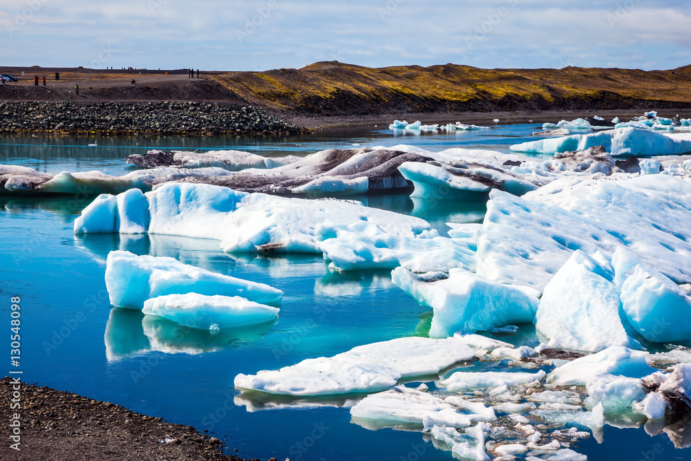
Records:
{"label": "yellow-brown mossy hill ridge along the horizon", "polygon": [[691,109],[691,66],[489,70],[456,64],[368,68],[332,61],[214,74],[251,104],[301,114]]}

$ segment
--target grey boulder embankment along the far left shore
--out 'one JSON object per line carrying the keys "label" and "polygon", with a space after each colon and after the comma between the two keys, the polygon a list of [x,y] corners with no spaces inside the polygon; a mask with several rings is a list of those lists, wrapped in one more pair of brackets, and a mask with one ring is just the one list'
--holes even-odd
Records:
{"label": "grey boulder embankment along the far left shore", "polygon": [[256,106],[203,102],[0,102],[0,133],[272,135],[305,129]]}

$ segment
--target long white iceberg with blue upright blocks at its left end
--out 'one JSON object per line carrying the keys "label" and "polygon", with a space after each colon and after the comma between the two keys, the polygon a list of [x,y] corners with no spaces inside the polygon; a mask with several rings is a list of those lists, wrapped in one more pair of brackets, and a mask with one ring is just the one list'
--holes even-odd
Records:
{"label": "long white iceberg with blue upright blocks at its left end", "polygon": [[[124,198],[128,213],[146,216],[146,203]],[[226,252],[301,252],[320,254],[317,236],[329,229],[367,221],[384,232],[413,237],[429,229],[426,221],[392,211],[343,200],[305,200],[266,194],[247,194],[227,187],[186,183],[166,184],[146,194],[149,234],[211,238]],[[131,232],[115,215],[113,199],[102,196],[75,220],[75,234]],[[335,232],[332,232],[335,234]]]}

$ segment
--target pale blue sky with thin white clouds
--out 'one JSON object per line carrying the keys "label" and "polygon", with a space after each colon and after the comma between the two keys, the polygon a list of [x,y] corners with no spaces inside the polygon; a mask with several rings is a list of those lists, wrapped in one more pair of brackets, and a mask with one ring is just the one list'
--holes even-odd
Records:
{"label": "pale blue sky with thin white clouds", "polygon": [[0,65],[691,64],[689,0],[0,0]]}

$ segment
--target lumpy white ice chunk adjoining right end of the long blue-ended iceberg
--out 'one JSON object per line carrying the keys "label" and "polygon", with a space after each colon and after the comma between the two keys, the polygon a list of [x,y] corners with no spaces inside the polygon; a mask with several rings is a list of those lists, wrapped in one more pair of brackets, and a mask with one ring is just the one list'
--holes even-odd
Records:
{"label": "lumpy white ice chunk adjoining right end of the long blue-ended iceberg", "polygon": [[432,236],[397,235],[374,223],[360,221],[348,227],[329,227],[319,247],[337,270],[403,266],[414,272],[447,272],[453,267],[475,268],[475,252],[462,241]]}

